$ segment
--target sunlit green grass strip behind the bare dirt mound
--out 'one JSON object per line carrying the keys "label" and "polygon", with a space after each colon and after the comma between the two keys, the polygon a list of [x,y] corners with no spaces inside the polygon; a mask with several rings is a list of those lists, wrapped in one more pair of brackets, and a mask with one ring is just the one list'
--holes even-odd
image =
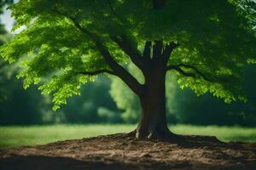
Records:
{"label": "sunlit green grass strip behind the bare dirt mound", "polygon": [[[47,144],[65,139],[82,139],[102,134],[125,133],[136,125],[49,125],[0,127],[0,149],[20,145]],[[256,142],[256,127],[171,126],[175,133],[217,136],[223,141]]]}

